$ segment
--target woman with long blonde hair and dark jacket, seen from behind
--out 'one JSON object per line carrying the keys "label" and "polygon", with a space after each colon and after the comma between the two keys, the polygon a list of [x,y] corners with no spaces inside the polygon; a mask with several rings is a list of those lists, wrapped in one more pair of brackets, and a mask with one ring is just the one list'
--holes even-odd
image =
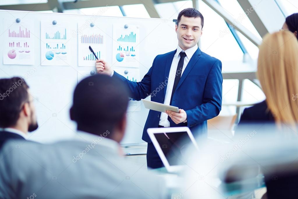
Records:
{"label": "woman with long blonde hair and dark jacket, seen from behind", "polygon": [[[262,126],[260,124],[272,123],[277,127],[290,127],[297,134],[298,41],[296,36],[286,30],[267,34],[259,50],[257,77],[266,100],[244,109],[238,129],[249,124],[251,129],[257,130]],[[262,130],[259,131],[262,132]],[[274,163],[277,161],[274,160]],[[292,173],[290,175],[292,177],[288,174],[282,175],[281,171],[276,173],[279,174],[278,180],[272,179],[273,175],[265,175],[268,199],[297,198],[298,173]]]}

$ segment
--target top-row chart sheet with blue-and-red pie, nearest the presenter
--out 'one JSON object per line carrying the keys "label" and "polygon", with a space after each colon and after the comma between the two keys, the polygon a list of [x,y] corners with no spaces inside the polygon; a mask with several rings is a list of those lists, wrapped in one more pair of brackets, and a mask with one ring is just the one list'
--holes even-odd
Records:
{"label": "top-row chart sheet with blue-and-red pie, nearest the presenter", "polygon": [[136,25],[113,24],[113,66],[139,67],[138,44],[139,28]]}

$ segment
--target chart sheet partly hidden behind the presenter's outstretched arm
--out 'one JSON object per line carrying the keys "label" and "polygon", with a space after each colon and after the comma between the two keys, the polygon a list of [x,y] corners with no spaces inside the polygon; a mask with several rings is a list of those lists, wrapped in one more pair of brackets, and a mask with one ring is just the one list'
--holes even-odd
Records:
{"label": "chart sheet partly hidden behind the presenter's outstretched arm", "polygon": [[[115,67],[114,71],[127,78],[130,81],[138,82],[140,81],[140,70],[138,68],[123,68],[123,67]],[[140,111],[141,110],[140,101],[136,101],[135,99],[129,98],[128,101],[128,112]]]}

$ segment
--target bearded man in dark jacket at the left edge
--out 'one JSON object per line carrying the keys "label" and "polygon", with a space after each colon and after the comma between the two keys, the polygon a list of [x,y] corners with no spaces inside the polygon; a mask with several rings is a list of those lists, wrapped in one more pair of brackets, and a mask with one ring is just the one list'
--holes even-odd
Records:
{"label": "bearded man in dark jacket at the left edge", "polygon": [[24,79],[0,79],[0,148],[7,140],[25,140],[38,128],[32,101]]}

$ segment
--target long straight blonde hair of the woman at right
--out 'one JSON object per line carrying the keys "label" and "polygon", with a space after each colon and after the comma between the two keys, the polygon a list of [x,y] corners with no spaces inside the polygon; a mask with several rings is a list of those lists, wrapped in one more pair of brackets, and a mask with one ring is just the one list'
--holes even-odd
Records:
{"label": "long straight blonde hair of the woman at right", "polygon": [[290,31],[267,34],[259,49],[257,76],[268,109],[277,124],[295,125],[298,123],[297,38]]}

